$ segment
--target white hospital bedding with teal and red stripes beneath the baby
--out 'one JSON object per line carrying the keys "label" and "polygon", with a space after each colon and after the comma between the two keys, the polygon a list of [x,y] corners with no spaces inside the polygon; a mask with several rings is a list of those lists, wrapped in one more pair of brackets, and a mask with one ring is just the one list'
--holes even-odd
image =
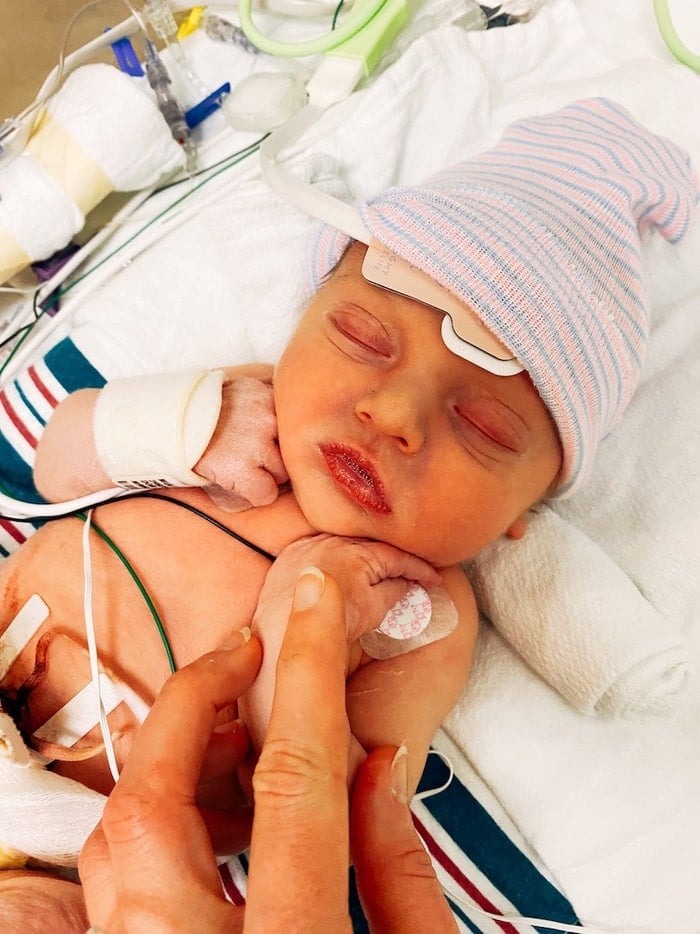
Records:
{"label": "white hospital bedding with teal and red stripes beneath the baby", "polygon": [[[691,6],[679,0],[676,14],[692,26]],[[429,7],[436,16],[444,8]],[[700,29],[695,36],[700,45]],[[663,47],[650,4],[550,0],[527,24],[423,35],[322,117],[289,168],[359,200],[483,149],[519,116],[590,95],[620,101],[700,165],[699,90]],[[116,236],[128,239],[157,213],[141,212]],[[56,316],[5,385],[0,464],[14,495],[31,495],[36,438],[67,391],[148,370],[274,360],[284,345],[308,291],[300,271],[316,223],[267,191],[254,159],[171,217],[135,237],[118,275],[100,282],[97,270],[76,285],[64,299],[75,315]],[[624,934],[700,931],[699,246],[696,231],[680,248],[647,250],[654,315],[642,385],[589,486],[538,515],[527,591],[513,569],[529,554],[490,551],[471,568],[492,622],[435,738],[456,777],[414,811],[442,881],[487,911]],[[0,554],[28,531],[0,520]],[[573,563],[557,560],[562,540]],[[591,565],[577,564],[580,542]],[[591,567],[577,614],[564,598]],[[602,618],[591,615],[596,595]],[[531,623],[553,605],[570,615],[533,638]],[[594,687],[582,671],[607,672],[607,683]],[[441,784],[441,768],[431,757],[428,784]],[[242,867],[232,872],[230,885],[243,889]],[[545,929],[456,903],[455,912],[463,930]]]}

